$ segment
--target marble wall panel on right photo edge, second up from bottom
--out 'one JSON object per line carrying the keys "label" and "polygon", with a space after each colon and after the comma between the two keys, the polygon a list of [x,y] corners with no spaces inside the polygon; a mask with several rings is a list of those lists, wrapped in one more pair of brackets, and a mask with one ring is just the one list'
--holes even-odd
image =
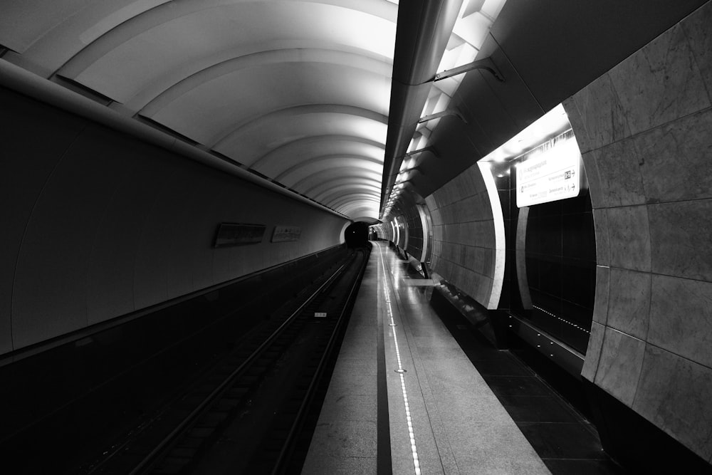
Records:
{"label": "marble wall panel on right photo edge, second up from bottom", "polygon": [[712,283],[652,276],[647,340],[712,368]]}

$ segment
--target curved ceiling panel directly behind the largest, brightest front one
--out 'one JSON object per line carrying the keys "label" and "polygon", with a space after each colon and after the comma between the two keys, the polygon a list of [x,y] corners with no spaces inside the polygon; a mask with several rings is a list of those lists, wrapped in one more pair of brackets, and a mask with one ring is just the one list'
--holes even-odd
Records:
{"label": "curved ceiling panel directly behind the largest, brightest front one", "polygon": [[[387,114],[387,76],[339,63],[301,61],[264,63],[219,75],[141,115],[202,144],[214,144],[247,120],[288,107],[344,104]],[[343,56],[340,54],[340,56]]]}

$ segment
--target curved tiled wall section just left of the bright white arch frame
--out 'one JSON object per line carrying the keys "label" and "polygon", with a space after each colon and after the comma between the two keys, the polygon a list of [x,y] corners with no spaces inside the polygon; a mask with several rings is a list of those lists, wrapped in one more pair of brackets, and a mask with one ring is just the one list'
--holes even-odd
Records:
{"label": "curved tiled wall section just left of the bright white arch frame", "polygon": [[426,204],[433,221],[431,270],[487,307],[496,242],[492,206],[478,166],[426,197]]}

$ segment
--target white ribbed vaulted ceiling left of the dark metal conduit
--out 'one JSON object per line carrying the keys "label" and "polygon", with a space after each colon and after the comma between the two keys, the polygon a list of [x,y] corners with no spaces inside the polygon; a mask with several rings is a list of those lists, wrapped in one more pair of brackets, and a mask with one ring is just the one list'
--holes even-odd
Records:
{"label": "white ribbed vaulted ceiling left of the dark metal conduit", "polygon": [[[397,9],[388,0],[8,0],[1,61],[373,223]],[[339,187],[319,186],[335,179]]]}

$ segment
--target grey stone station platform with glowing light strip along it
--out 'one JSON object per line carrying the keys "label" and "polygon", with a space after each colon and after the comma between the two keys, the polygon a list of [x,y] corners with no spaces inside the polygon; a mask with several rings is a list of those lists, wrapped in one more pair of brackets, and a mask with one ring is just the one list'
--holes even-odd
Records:
{"label": "grey stone station platform with glowing light strip along it", "polygon": [[432,281],[375,241],[303,474],[550,474],[429,305]]}

